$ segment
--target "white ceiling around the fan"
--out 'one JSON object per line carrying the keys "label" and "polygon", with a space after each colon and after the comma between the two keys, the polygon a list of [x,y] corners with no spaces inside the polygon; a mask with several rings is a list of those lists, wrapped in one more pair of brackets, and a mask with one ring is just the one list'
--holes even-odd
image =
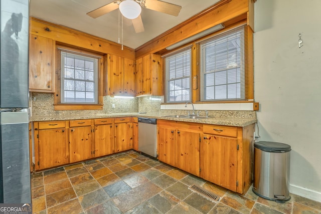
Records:
{"label": "white ceiling around the fan", "polygon": [[121,40],[121,19],[120,31],[118,30],[119,10],[112,11],[97,19],[86,15],[86,13],[113,1],[114,0],[31,0],[31,16],[113,42],[118,42],[118,38],[120,38],[120,43],[122,41],[124,46],[135,49],[219,2],[219,0],[163,0],[164,2],[182,6],[178,17],[143,8],[141,18],[145,31],[136,34],[131,21],[124,18],[123,40]]}

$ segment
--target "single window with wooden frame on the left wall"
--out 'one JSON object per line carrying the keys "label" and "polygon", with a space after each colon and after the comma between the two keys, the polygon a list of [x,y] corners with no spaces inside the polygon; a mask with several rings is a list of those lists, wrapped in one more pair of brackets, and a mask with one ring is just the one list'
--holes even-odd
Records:
{"label": "single window with wooden frame on the left wall", "polygon": [[58,47],[57,56],[55,104],[73,106],[101,104],[98,80],[101,56],[62,47]]}

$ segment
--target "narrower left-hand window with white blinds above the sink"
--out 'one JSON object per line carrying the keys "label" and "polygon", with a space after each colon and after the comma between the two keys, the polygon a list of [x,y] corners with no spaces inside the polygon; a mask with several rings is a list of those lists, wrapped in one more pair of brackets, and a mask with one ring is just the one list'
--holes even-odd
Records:
{"label": "narrower left-hand window with white blinds above the sink", "polygon": [[165,56],[166,102],[191,101],[191,47]]}

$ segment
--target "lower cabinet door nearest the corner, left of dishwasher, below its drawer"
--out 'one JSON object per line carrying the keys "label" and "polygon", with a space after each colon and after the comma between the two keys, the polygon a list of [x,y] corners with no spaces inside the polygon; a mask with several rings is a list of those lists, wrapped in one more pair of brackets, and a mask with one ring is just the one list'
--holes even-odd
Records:
{"label": "lower cabinet door nearest the corner, left of dishwasher, below its drawer", "polygon": [[115,152],[131,149],[130,143],[130,122],[115,124]]}

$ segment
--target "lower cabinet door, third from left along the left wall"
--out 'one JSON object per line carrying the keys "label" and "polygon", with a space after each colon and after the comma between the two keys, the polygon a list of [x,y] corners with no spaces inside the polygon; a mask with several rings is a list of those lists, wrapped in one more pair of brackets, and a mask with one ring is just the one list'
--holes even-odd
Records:
{"label": "lower cabinet door, third from left along the left wall", "polygon": [[114,129],[112,124],[95,126],[95,157],[114,152]]}

